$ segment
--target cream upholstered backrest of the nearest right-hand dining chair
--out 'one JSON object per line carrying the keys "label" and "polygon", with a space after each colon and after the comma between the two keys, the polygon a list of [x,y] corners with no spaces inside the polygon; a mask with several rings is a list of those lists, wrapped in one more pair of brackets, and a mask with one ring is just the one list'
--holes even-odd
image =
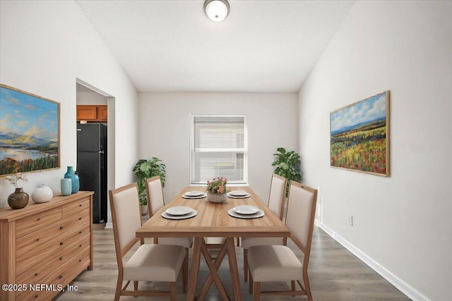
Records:
{"label": "cream upholstered backrest of the nearest right-hand dining chair", "polygon": [[285,224],[290,228],[290,238],[304,252],[304,257],[308,257],[308,259],[312,232],[314,231],[316,201],[316,189],[293,180],[290,182]]}

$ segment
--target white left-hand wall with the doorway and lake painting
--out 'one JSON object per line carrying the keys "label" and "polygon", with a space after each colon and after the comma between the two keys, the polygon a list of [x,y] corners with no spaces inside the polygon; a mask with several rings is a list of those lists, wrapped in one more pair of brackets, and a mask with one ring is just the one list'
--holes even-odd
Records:
{"label": "white left-hand wall with the doorway and lake painting", "polygon": [[[24,190],[31,194],[44,183],[59,193],[66,166],[76,166],[76,80],[114,97],[114,186],[130,183],[138,157],[137,93],[76,2],[1,1],[0,37],[0,82],[61,103],[61,168],[27,173]],[[0,190],[0,207],[8,207],[13,186],[0,180]]]}

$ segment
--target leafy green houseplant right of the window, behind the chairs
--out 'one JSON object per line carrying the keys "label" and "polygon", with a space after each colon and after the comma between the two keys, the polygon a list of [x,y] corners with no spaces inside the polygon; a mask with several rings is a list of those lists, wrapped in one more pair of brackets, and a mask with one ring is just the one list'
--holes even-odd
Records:
{"label": "leafy green houseplant right of the window, behind the chairs", "polygon": [[279,176],[287,178],[287,187],[285,190],[285,196],[289,192],[290,180],[295,180],[296,182],[302,182],[302,175],[300,173],[300,161],[299,154],[295,151],[287,152],[284,147],[278,147],[276,149],[275,161],[272,166],[275,166],[275,171]]}

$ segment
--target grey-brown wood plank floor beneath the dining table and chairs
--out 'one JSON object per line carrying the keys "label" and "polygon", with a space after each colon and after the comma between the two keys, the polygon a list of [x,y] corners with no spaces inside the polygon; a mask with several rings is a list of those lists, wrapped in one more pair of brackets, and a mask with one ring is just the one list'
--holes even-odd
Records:
{"label": "grey-brown wood plank floor beneath the dining table and chairs", "polygon": [[[112,229],[100,229],[94,231],[94,269],[83,271],[72,285],[78,290],[61,293],[58,300],[114,300],[114,288],[117,281],[117,262],[114,253],[114,241]],[[147,242],[151,242],[150,240]],[[296,247],[289,242],[292,250]],[[253,300],[248,293],[248,284],[243,281],[243,252],[237,247],[237,258],[239,259],[239,271],[242,279],[241,288],[245,301]],[[191,250],[190,250],[191,252]],[[296,253],[301,256],[301,252]],[[225,283],[225,288],[230,296],[232,283],[229,273],[227,259],[220,267],[220,277]],[[201,260],[201,269],[198,277],[197,291],[201,289],[204,279],[208,275],[208,267]],[[391,283],[376,274],[375,271],[361,262],[355,255],[351,254],[329,235],[314,228],[312,240],[311,259],[309,261],[309,280],[312,295],[315,301],[340,301],[340,300],[410,300],[407,296],[397,290]],[[182,276],[177,282],[177,300],[185,300],[182,294]],[[140,283],[140,288],[166,288],[167,283]],[[261,290],[278,290],[289,288],[290,283],[262,283]],[[129,288],[132,285],[129,285]],[[132,286],[133,287],[133,286]],[[146,297],[121,297],[124,300],[167,300],[167,298]],[[212,285],[206,300],[221,300],[215,285]],[[306,300],[304,296],[265,296],[261,300]]]}

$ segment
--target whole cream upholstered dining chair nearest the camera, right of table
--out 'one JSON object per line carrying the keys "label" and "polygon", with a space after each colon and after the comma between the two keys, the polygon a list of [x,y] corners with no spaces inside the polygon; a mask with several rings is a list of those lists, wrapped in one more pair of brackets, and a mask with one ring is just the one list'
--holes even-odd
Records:
{"label": "whole cream upholstered dining chair nearest the camera, right of table", "polygon": [[[308,278],[309,254],[316,212],[317,190],[295,181],[290,182],[287,200],[286,226],[290,228],[290,239],[304,254],[303,263],[285,245],[256,245],[249,247],[249,293],[254,300],[260,295],[307,295],[312,300]],[[292,290],[283,292],[261,292],[261,282],[291,281]],[[303,284],[300,282],[303,281]],[[297,290],[295,282],[301,290]]]}

